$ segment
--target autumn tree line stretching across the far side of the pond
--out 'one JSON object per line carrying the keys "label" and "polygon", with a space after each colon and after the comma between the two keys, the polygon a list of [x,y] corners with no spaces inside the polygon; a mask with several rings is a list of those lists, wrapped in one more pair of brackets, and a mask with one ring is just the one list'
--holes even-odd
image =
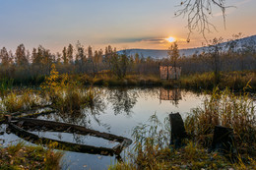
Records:
{"label": "autumn tree line stretching across the far side of the pond", "polygon": [[96,76],[100,72],[110,72],[117,78],[127,74],[159,75],[160,65],[182,67],[182,74],[256,70],[255,41],[240,44],[240,35],[235,35],[225,45],[223,38],[215,38],[203,52],[195,52],[192,56],[181,56],[177,44],[168,49],[168,58],[154,59],[136,53],[127,55],[120,53],[108,45],[104,50],[93,50],[89,45],[84,47],[79,41],[75,46],[69,44],[62,52],[52,53],[39,45],[32,52],[20,44],[15,52],[0,49],[0,79],[13,79],[16,83],[40,83],[50,73],[55,64],[59,73],[87,74]]}

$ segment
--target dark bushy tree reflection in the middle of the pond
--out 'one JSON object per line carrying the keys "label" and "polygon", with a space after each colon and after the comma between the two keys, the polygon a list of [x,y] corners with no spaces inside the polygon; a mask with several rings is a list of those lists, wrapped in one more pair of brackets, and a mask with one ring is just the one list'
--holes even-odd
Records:
{"label": "dark bushy tree reflection in the middle of the pond", "polygon": [[122,112],[130,115],[137,98],[137,89],[128,90],[127,88],[111,89],[106,97],[107,101],[112,104],[115,115]]}

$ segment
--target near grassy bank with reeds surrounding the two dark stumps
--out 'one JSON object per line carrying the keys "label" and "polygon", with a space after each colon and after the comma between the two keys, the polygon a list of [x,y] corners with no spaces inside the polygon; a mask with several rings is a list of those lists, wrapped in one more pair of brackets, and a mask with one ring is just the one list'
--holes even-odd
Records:
{"label": "near grassy bank with reeds surrounding the two dark stumps", "polygon": [[[208,152],[216,125],[232,128],[237,159],[230,155]],[[134,150],[126,162],[109,169],[255,169],[256,167],[256,111],[247,93],[234,95],[228,89],[215,88],[203,106],[193,109],[185,120],[188,138],[185,146],[173,149],[169,145],[169,121],[164,123],[156,115],[148,124],[133,131]]]}

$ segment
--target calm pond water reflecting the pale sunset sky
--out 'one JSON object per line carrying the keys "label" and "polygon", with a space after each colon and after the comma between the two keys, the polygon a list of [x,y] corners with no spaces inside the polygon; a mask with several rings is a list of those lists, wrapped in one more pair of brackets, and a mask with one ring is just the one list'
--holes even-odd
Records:
{"label": "calm pond water reflecting the pale sunset sky", "polygon": [[[171,112],[179,112],[183,118],[192,108],[200,106],[204,95],[182,89],[156,88],[94,88],[97,91],[96,105],[76,114],[51,113],[37,119],[72,123],[96,131],[106,132],[131,140],[133,129],[145,124],[156,114],[161,122]],[[6,133],[7,125],[1,125],[0,144],[6,146],[23,141],[14,134]],[[86,143],[112,147],[115,143],[95,137],[66,133],[32,132],[36,135],[65,142]],[[30,142],[27,142],[30,143]],[[130,148],[132,145],[130,145]],[[124,150],[122,155],[124,155]],[[115,162],[114,156],[65,151],[63,169],[107,169]]]}

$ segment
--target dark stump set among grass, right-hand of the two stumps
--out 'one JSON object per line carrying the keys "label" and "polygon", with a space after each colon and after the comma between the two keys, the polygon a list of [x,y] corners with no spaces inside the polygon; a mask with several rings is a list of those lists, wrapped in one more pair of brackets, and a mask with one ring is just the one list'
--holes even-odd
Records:
{"label": "dark stump set among grass, right-hand of the two stumps", "polygon": [[216,126],[211,151],[219,151],[233,162],[236,160],[237,149],[233,137],[233,130],[222,126]]}

